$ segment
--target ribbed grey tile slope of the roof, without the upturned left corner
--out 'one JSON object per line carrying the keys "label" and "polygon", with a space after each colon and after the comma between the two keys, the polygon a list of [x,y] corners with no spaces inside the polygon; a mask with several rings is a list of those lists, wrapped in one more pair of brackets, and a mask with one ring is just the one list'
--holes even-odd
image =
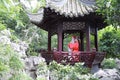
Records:
{"label": "ribbed grey tile slope of the roof, without the upturned left corner", "polygon": [[94,12],[95,0],[47,0],[47,7],[66,17],[78,17]]}

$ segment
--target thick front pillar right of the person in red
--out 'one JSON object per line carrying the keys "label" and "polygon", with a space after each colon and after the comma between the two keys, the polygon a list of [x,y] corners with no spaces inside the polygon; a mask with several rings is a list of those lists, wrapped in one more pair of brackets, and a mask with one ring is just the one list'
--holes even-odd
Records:
{"label": "thick front pillar right of the person in red", "polygon": [[86,51],[90,51],[90,25],[86,25]]}

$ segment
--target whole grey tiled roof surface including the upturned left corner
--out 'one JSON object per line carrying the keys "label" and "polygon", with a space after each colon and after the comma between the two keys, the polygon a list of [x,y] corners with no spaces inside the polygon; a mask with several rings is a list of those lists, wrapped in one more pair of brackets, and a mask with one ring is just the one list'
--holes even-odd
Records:
{"label": "whole grey tiled roof surface including the upturned left corner", "polygon": [[[46,8],[64,15],[65,17],[79,17],[95,12],[95,0],[46,0]],[[37,14],[28,14],[30,21],[36,25],[42,22],[44,8]]]}

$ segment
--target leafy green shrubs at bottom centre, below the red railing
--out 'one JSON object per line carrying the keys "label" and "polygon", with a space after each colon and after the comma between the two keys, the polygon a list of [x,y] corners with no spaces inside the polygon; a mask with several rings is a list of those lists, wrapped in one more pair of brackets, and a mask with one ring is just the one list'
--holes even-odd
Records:
{"label": "leafy green shrubs at bottom centre, below the red railing", "polygon": [[89,74],[90,69],[83,67],[82,64],[61,65],[53,61],[49,65],[50,78],[52,80],[97,80]]}

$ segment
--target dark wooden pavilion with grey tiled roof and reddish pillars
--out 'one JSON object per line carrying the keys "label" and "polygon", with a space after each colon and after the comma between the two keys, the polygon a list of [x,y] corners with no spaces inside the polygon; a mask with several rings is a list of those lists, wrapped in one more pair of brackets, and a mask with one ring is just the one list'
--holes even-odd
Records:
{"label": "dark wooden pavilion with grey tiled roof and reddish pillars", "polygon": [[[95,0],[46,0],[46,6],[41,8],[38,13],[28,13],[33,24],[48,32],[48,51],[44,52],[44,55],[53,54],[51,58],[60,62],[62,58],[59,60],[58,58],[67,54],[63,51],[65,34],[79,33],[80,55],[82,56],[79,58],[82,58],[90,67],[96,61],[100,64],[104,53],[98,52],[98,30],[104,28],[106,23],[101,15],[96,14],[96,9]],[[51,50],[51,37],[55,34],[58,37],[57,52]],[[95,51],[92,51],[90,47],[90,35],[94,36]],[[86,50],[84,50],[85,37]],[[56,56],[57,54],[59,56]]]}

